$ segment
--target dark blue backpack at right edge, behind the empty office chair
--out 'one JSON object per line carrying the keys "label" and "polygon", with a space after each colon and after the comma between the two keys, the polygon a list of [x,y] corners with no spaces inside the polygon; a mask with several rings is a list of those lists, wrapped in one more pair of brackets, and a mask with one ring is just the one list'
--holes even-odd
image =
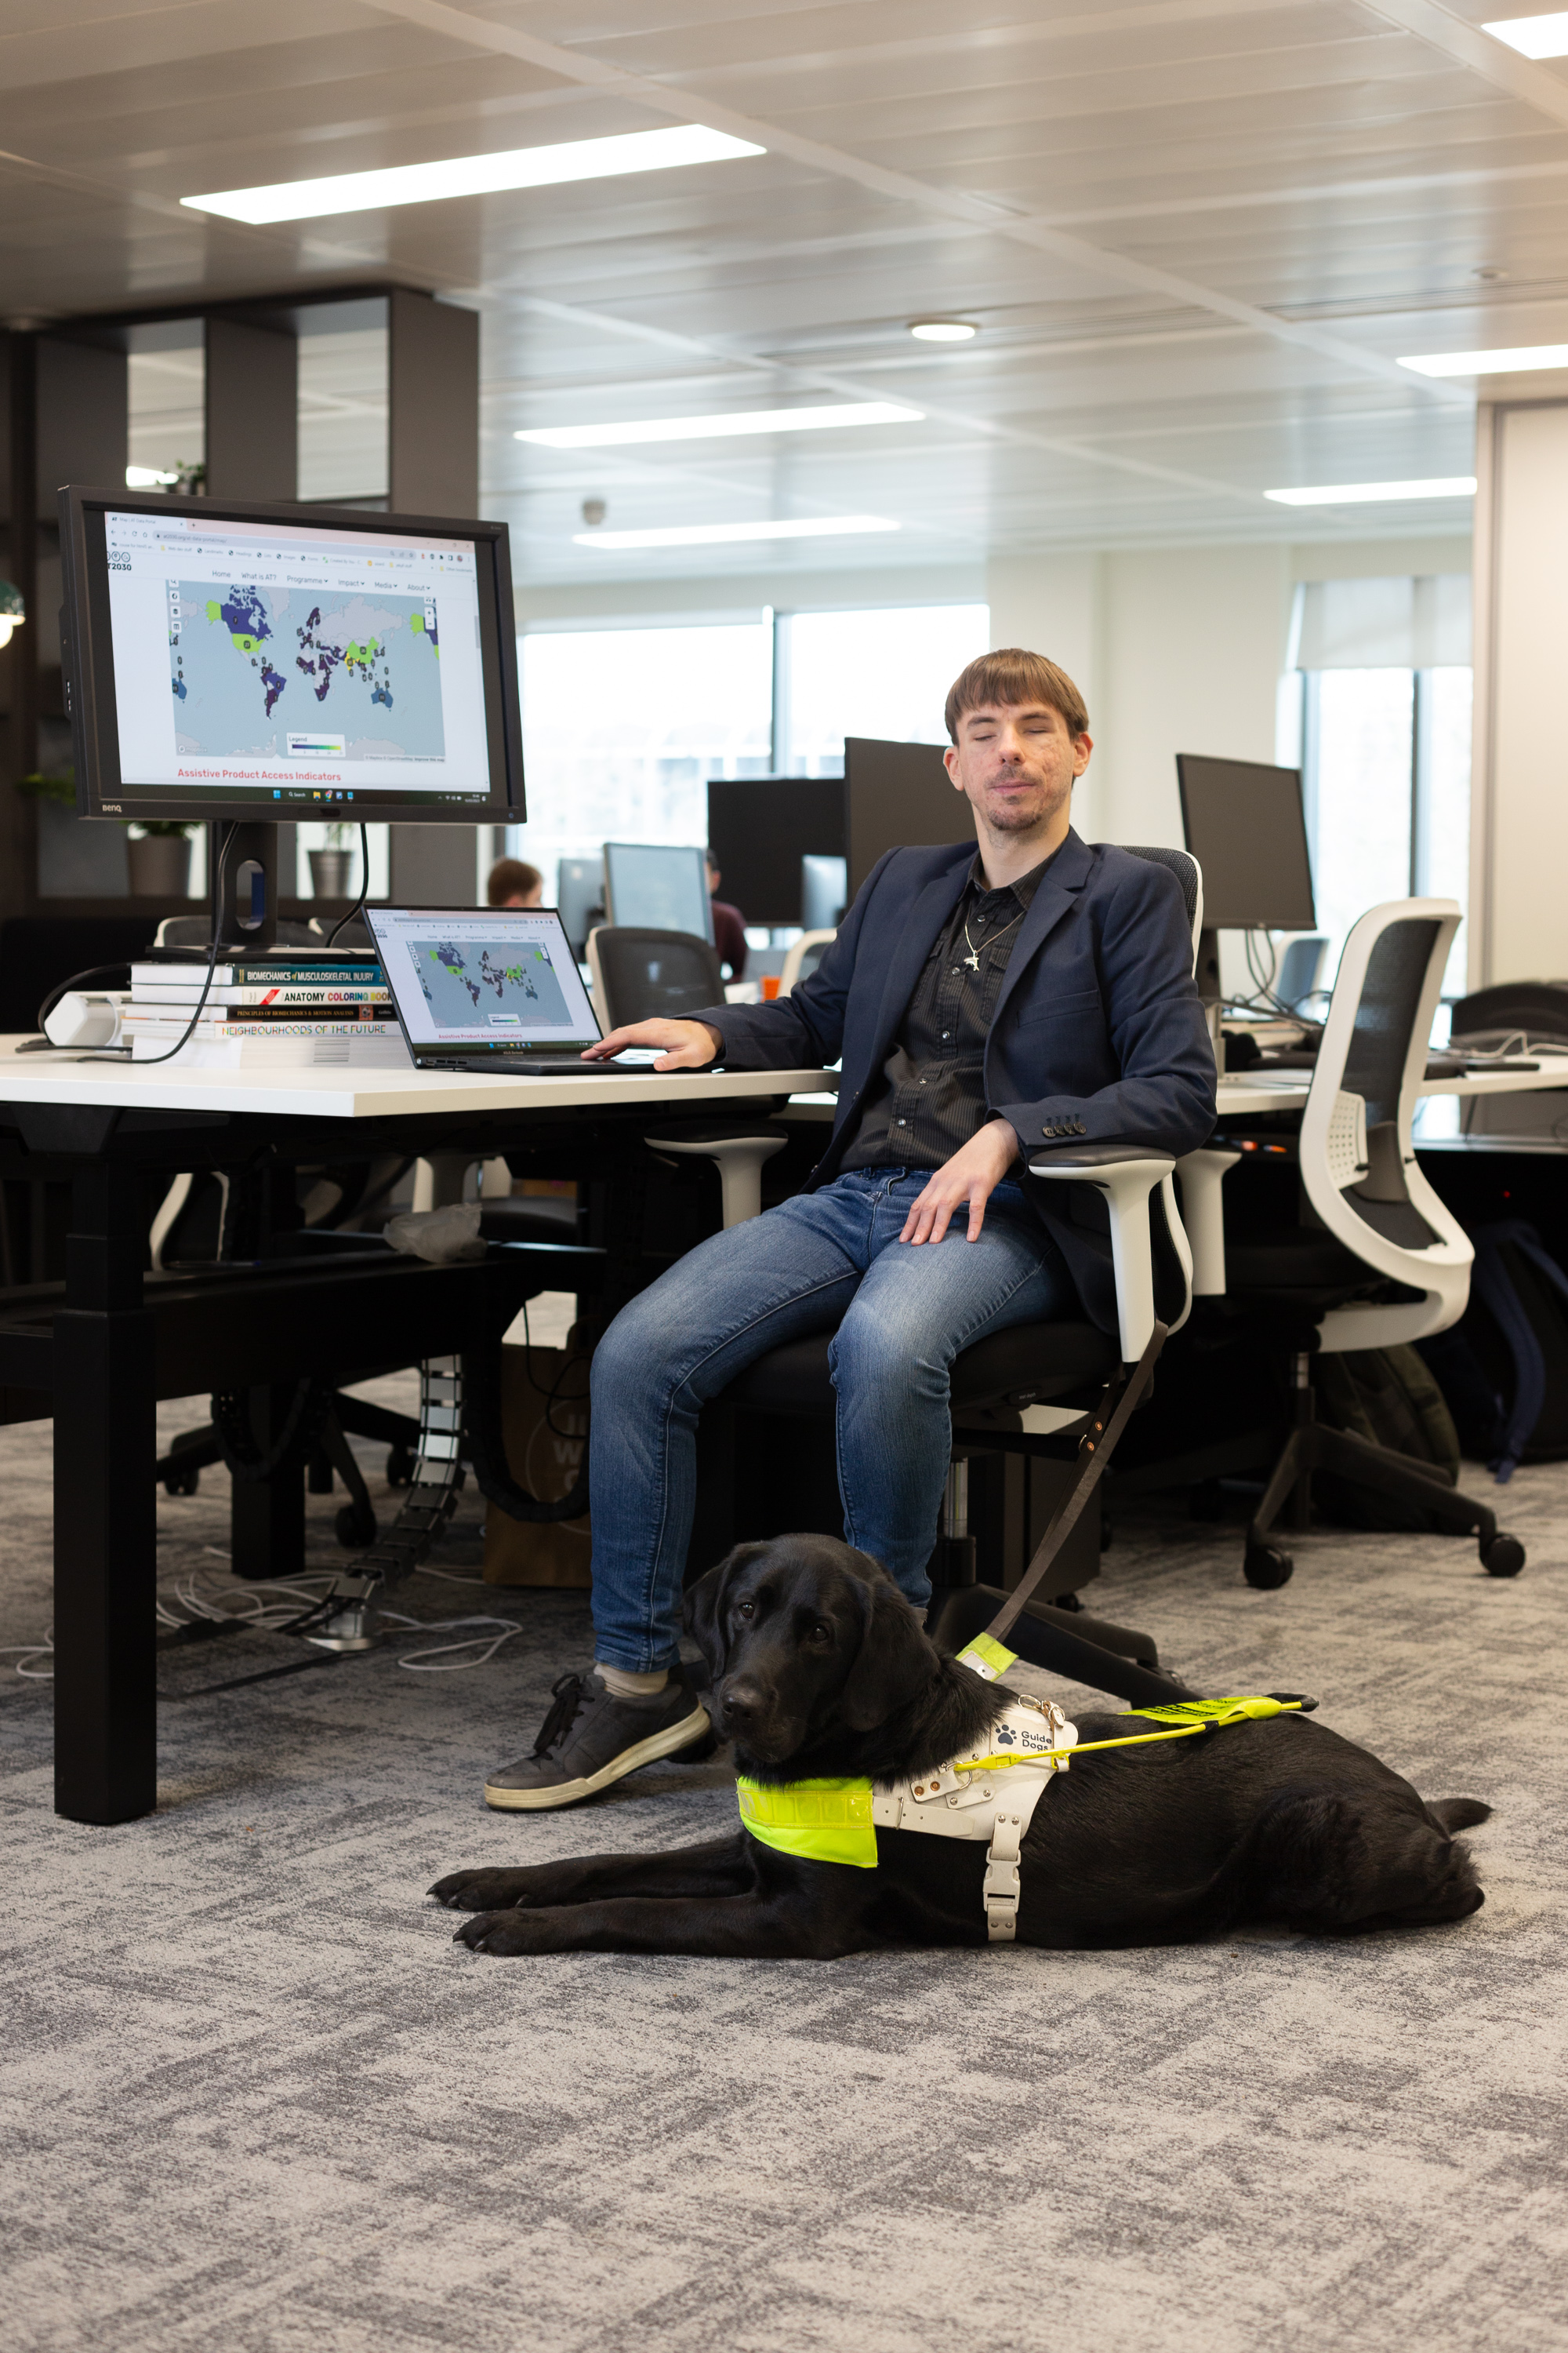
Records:
{"label": "dark blue backpack at right edge, behind the empty office chair", "polygon": [[1502,1482],[1519,1464],[1568,1457],[1568,1275],[1523,1219],[1476,1226],[1469,1238],[1469,1306],[1420,1353],[1465,1452]]}

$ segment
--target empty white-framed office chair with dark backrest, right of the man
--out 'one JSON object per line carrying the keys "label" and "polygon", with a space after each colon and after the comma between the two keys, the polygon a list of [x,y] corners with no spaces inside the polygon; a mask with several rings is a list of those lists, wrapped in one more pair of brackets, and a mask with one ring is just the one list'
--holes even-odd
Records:
{"label": "empty white-framed office chair with dark backrest, right of the man", "polygon": [[[1483,1504],[1406,1454],[1326,1428],[1312,1398],[1314,1353],[1446,1332],[1469,1299],[1469,1238],[1422,1176],[1410,1134],[1458,927],[1453,899],[1394,899],[1361,915],[1340,958],[1300,1136],[1267,1139],[1276,1165],[1295,1162],[1298,1219],[1227,1233],[1218,1287],[1204,1231],[1211,1297],[1222,1299],[1225,1315],[1258,1322],[1291,1365],[1288,1428],[1246,1532],[1251,1586],[1274,1588],[1291,1577],[1291,1555],[1272,1529],[1288,1497],[1295,1527],[1309,1527],[1316,1468],[1415,1504],[1436,1527],[1474,1532],[1493,1577],[1523,1567],[1523,1546],[1500,1534]],[[1244,1129],[1244,1120],[1227,1122],[1206,1155],[1225,1160],[1215,1188],[1258,1151]]]}

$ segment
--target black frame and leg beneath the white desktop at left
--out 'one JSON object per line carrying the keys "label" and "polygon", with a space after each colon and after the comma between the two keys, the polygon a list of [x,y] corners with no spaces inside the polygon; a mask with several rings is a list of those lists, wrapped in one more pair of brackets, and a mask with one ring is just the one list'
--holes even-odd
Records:
{"label": "black frame and leg beneath the white desktop at left", "polygon": [[[748,1099],[750,1118],[788,1096]],[[712,1104],[661,1104],[658,1127],[712,1122]],[[592,1257],[614,1311],[670,1254],[646,1247],[649,1108],[496,1108],[360,1120],[0,1101],[0,1176],[68,1179],[63,1285],[0,1297],[7,1419],[54,1414],[54,1805],[87,1824],[134,1821],[158,1802],[155,1586],[160,1398],[299,1379],[364,1379],[376,1365],[496,1337],[517,1306]],[[324,1259],[261,1257],[212,1273],[148,1275],[148,1181],[181,1169],[367,1160],[381,1153],[505,1153],[541,1174],[590,1179],[602,1247],[501,1249],[425,1266],[378,1245]],[[68,1412],[59,1402],[68,1400]],[[270,1574],[294,1558],[294,1515],[266,1485],[235,1482],[235,1513],[270,1513],[247,1553]]]}

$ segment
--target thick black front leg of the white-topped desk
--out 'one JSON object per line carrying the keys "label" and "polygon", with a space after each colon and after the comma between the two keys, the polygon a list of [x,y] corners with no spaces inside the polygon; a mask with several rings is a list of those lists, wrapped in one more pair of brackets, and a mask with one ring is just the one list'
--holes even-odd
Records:
{"label": "thick black front leg of the white-topped desk", "polygon": [[134,1821],[158,1802],[153,1318],[141,1179],[73,1186],[54,1318],[54,1809]]}

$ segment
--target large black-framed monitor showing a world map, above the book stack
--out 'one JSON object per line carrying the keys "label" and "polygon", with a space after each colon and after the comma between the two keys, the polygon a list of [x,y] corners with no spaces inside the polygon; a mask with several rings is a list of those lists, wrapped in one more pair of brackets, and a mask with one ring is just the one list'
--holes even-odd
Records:
{"label": "large black-framed monitor showing a world map, above the book stack", "polygon": [[524,819],[505,525],[59,504],[82,816]]}

